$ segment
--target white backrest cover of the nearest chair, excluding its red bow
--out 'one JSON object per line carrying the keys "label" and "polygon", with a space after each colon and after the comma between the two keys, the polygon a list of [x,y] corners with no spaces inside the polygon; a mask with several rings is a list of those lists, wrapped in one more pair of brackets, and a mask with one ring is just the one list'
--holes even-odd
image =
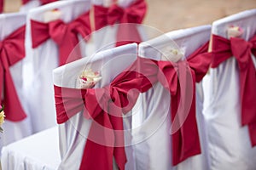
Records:
{"label": "white backrest cover of the nearest chair, excluding its red bow", "polygon": [[[137,59],[137,44],[131,43],[118,48],[99,52],[92,57],[79,59],[54,70],[54,83],[59,87],[76,88],[77,77],[86,68],[100,71],[102,80],[96,88],[108,85],[114,77],[124,71]],[[85,119],[82,113],[71,117],[59,125],[61,165],[59,169],[79,169],[84,152],[86,136],[90,130],[91,120]],[[131,129],[131,118],[124,118],[124,129]],[[125,136],[125,143],[131,139]],[[125,147],[128,162],[126,169],[133,169],[132,148]]]}

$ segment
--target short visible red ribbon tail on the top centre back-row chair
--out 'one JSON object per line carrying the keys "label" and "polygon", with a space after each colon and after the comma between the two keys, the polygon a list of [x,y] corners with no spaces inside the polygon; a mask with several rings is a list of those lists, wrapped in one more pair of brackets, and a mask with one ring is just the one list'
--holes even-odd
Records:
{"label": "short visible red ribbon tail on the top centre back-row chair", "polygon": [[119,24],[117,32],[116,47],[132,42],[142,42],[142,38],[137,30],[137,24],[122,23]]}

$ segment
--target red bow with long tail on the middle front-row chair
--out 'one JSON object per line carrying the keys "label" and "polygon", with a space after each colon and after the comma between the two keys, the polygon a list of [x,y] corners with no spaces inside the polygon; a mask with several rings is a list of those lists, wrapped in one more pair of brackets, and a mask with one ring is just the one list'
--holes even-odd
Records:
{"label": "red bow with long tail on the middle front-row chair", "polygon": [[159,78],[162,85],[169,89],[172,101],[172,164],[201,153],[200,139],[195,117],[195,82],[201,82],[206,75],[212,56],[207,53],[208,42],[187,60],[172,63],[159,61],[160,70],[166,82]]}

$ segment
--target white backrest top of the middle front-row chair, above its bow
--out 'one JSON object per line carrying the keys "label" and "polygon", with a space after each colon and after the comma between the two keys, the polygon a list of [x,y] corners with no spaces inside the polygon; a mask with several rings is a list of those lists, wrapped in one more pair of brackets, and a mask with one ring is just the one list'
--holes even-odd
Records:
{"label": "white backrest top of the middle front-row chair, above its bow", "polygon": [[211,26],[197,26],[188,29],[168,32],[139,45],[139,55],[160,60],[166,49],[181,50],[185,57],[209,41]]}

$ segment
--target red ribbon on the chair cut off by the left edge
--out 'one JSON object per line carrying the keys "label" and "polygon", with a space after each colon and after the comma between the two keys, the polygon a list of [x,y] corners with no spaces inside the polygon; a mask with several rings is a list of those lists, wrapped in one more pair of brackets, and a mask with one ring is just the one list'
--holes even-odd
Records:
{"label": "red ribbon on the chair cut off by the left edge", "polygon": [[24,40],[25,26],[21,26],[0,42],[0,96],[3,96],[1,103],[5,106],[6,119],[13,122],[26,118],[9,71],[11,65],[25,57]]}

